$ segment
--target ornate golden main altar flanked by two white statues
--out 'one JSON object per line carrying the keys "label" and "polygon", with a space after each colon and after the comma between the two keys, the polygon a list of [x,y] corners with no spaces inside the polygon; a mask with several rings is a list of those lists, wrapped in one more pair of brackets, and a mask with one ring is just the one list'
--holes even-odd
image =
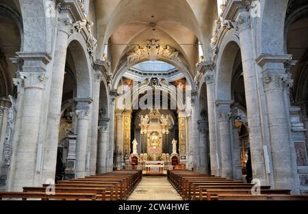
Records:
{"label": "ornate golden main altar flanked by two white statues", "polygon": [[[168,142],[168,133],[172,126],[172,117],[164,115],[159,110],[153,109],[148,114],[140,116],[141,142],[133,139],[131,153],[131,165],[136,166],[146,172],[163,172],[172,169],[172,165],[179,164],[177,153],[177,140]],[[138,153],[138,144],[141,152]],[[168,144],[172,144],[172,152],[168,151]]]}

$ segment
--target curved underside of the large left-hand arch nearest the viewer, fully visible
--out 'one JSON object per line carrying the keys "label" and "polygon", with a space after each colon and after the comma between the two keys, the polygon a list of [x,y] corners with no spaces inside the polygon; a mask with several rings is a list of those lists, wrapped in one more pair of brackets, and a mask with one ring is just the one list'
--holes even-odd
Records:
{"label": "curved underside of the large left-hand arch nearest the viewer, fully visible", "polygon": [[92,96],[92,69],[86,43],[82,41],[72,38],[68,42],[68,49],[72,53],[75,64],[77,98],[90,98]]}

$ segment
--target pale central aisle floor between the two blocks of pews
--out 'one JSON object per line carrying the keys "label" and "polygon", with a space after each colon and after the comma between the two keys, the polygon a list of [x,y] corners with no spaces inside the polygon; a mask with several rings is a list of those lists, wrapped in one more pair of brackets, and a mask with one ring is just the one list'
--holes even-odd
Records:
{"label": "pale central aisle floor between the two blocks of pews", "polygon": [[166,176],[143,176],[128,200],[183,200]]}

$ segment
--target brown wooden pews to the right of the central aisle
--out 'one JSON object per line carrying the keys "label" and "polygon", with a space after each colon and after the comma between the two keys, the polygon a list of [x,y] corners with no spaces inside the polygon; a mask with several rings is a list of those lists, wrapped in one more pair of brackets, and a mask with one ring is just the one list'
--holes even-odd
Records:
{"label": "brown wooden pews to the right of the central aisle", "polygon": [[168,171],[168,180],[184,200],[308,200],[308,196],[294,196],[290,189],[259,187],[252,192],[253,184],[201,174],[188,170]]}

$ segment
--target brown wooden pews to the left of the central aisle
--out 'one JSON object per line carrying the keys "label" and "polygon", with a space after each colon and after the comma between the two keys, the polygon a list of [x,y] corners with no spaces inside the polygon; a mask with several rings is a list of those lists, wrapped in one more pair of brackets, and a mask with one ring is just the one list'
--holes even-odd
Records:
{"label": "brown wooden pews to the left of the central aisle", "polygon": [[126,200],[140,180],[142,170],[114,171],[74,180],[61,180],[55,185],[23,187],[23,192],[0,192],[0,200]]}

